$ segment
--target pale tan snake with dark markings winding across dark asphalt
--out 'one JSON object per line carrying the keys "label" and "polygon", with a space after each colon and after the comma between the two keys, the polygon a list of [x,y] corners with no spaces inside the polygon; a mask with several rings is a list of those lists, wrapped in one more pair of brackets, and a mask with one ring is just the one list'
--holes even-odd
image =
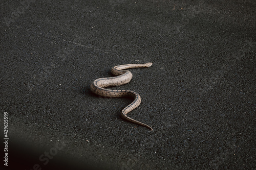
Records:
{"label": "pale tan snake with dark markings winding across dark asphalt", "polygon": [[125,64],[125,65],[117,65],[114,66],[111,69],[111,73],[116,77],[110,77],[110,78],[99,78],[93,81],[90,88],[91,91],[96,94],[100,95],[106,98],[121,98],[130,96],[134,99],[134,101],[126,106],[124,109],[122,109],[121,112],[121,118],[124,120],[127,120],[128,122],[132,122],[134,124],[146,127],[153,130],[150,126],[143,124],[129,116],[127,116],[127,113],[131,112],[135,108],[137,108],[141,103],[141,97],[140,95],[132,90],[112,90],[112,89],[106,89],[106,87],[113,87],[113,86],[120,86],[126,83],[129,83],[132,78],[133,74],[129,70],[129,68],[141,68],[141,67],[150,67],[152,63],[145,63],[145,64]]}

